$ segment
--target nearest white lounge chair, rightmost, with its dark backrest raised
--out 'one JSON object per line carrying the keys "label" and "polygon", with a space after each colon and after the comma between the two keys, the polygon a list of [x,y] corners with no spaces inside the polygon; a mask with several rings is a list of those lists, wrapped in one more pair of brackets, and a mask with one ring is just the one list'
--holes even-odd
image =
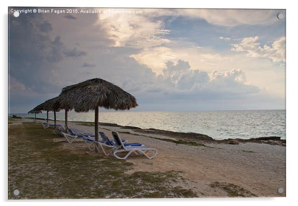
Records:
{"label": "nearest white lounge chair, rightmost, with its dark backrest raised", "polygon": [[[145,155],[147,158],[152,159],[157,154],[157,150],[154,148],[146,146],[125,146],[121,141],[119,134],[117,132],[112,132],[113,138],[115,140],[115,148],[111,151],[117,159],[126,159],[130,154],[135,153],[139,155]],[[153,151],[152,155],[147,153]],[[118,153],[127,153],[124,157],[120,157]]]}

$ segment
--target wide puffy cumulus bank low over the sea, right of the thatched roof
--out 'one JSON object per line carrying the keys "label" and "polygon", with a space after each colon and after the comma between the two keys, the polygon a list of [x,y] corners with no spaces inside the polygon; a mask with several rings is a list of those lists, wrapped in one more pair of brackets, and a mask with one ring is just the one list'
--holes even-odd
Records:
{"label": "wide puffy cumulus bank low over the sea, right of the thatched roof", "polygon": [[189,62],[181,59],[167,61],[164,65],[162,75],[129,78],[123,88],[133,91],[143,100],[149,97],[160,100],[232,100],[260,92],[258,87],[246,82],[245,72],[241,69],[208,73],[191,68]]}

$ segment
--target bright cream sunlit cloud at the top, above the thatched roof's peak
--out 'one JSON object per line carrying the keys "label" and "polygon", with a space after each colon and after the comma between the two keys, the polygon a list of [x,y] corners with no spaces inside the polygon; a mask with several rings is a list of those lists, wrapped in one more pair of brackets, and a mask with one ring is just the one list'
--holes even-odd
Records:
{"label": "bright cream sunlit cloud at the top, above the thatched roof's peak", "polygon": [[148,48],[169,43],[162,36],[170,31],[161,20],[152,20],[142,14],[100,13],[98,24],[113,40],[114,47]]}

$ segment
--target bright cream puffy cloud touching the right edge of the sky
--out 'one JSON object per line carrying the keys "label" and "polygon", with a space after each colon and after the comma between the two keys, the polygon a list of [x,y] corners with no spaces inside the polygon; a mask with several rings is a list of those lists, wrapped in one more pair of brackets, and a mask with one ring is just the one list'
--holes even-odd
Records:
{"label": "bright cream puffy cloud touching the right edge of the sky", "polygon": [[239,44],[232,44],[232,51],[247,52],[251,57],[269,58],[273,62],[285,62],[286,37],[280,37],[272,45],[261,46],[258,43],[259,37],[247,37]]}

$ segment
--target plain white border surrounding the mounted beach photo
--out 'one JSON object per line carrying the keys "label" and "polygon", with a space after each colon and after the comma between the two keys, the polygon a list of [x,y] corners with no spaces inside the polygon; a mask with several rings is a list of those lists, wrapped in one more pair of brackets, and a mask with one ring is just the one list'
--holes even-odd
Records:
{"label": "plain white border surrounding the mounted beach photo", "polygon": [[[1,201],[7,203],[7,7],[8,6],[82,6],[82,7],[170,7],[170,8],[283,8],[287,9],[287,198],[251,198],[251,199],[142,199],[142,200],[88,200],[88,205],[94,205],[95,202],[101,202],[98,204],[108,204],[108,205],[139,205],[142,202],[142,205],[152,205],[152,204],[165,204],[169,203],[173,206],[178,206],[183,203],[188,205],[220,205],[220,206],[233,206],[240,204],[242,206],[262,204],[262,205],[288,205],[293,204],[297,201],[297,154],[296,150],[298,147],[297,139],[297,105],[298,98],[296,88],[297,77],[298,77],[298,68],[297,68],[297,7],[294,3],[295,1],[287,0],[270,0],[270,1],[261,1],[261,0],[246,0],[246,2],[240,0],[206,0],[198,1],[194,0],[179,0],[179,1],[161,1],[161,0],[149,0],[147,2],[141,0],[50,0],[50,1],[40,1],[40,0],[26,0],[26,1],[17,1],[10,0],[9,2],[1,1],[1,17],[2,17],[2,26],[1,26],[1,41],[4,47],[1,50],[1,78],[2,78],[2,95],[4,96],[5,101],[1,101],[1,122],[0,122],[0,131],[2,131],[1,137],[1,164],[0,169],[1,173],[1,187],[0,195]],[[87,200],[61,200],[61,201],[25,201],[21,203],[23,205],[40,205],[42,202],[43,205],[52,205],[53,202],[56,202],[57,205],[82,205],[82,201]],[[10,201],[12,202],[12,201]],[[69,203],[70,202],[70,203]],[[20,203],[12,202],[9,204],[16,205]]]}

